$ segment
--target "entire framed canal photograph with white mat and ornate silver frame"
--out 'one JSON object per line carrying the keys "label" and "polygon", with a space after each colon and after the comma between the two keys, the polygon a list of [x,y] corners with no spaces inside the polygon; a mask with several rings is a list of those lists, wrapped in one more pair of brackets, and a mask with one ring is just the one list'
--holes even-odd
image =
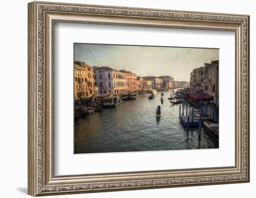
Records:
{"label": "entire framed canal photograph with white mat and ornate silver frame", "polygon": [[249,182],[249,16],[28,4],[28,194]]}

